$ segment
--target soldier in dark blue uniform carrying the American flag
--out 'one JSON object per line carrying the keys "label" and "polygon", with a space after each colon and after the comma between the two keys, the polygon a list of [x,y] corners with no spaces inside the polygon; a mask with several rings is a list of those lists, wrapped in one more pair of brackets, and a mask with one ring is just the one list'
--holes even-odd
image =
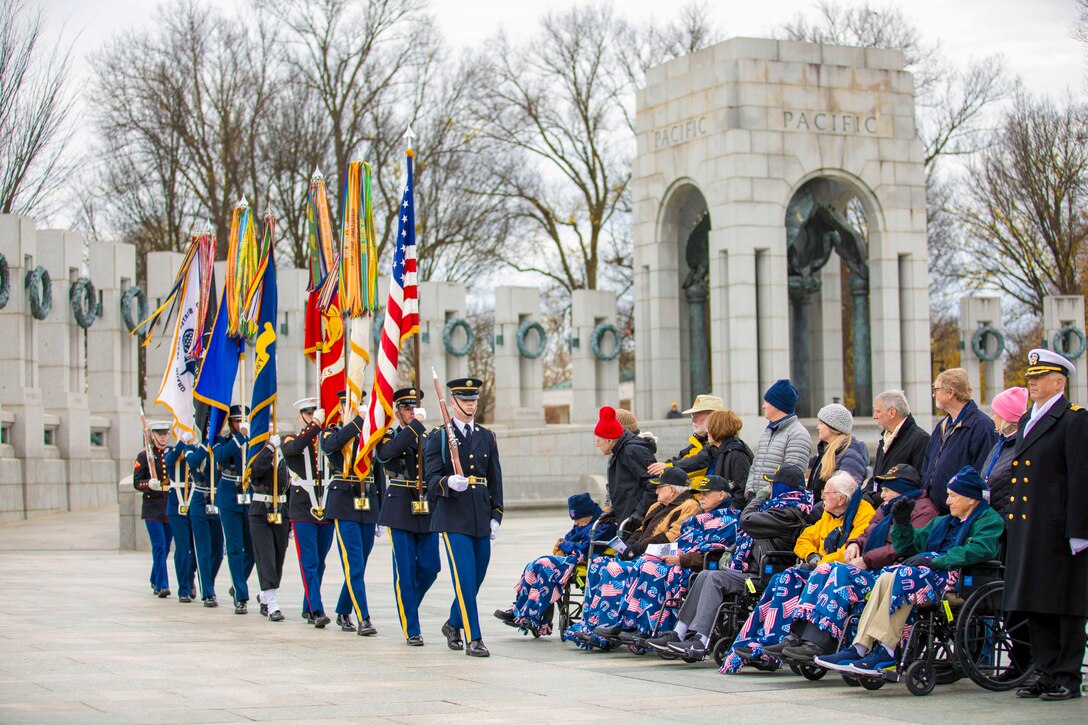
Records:
{"label": "soldier in dark blue uniform carrying the American flag", "polygon": [[[396,594],[400,629],[411,647],[422,647],[419,605],[442,570],[438,534],[431,530],[431,514],[420,511],[426,502],[417,492],[419,453],[426,444],[425,414],[419,407],[423,391],[404,388],[393,394],[395,426],[374,448],[374,475],[384,479],[381,525],[390,530],[393,543],[393,591]],[[415,511],[413,511],[413,504]]]}

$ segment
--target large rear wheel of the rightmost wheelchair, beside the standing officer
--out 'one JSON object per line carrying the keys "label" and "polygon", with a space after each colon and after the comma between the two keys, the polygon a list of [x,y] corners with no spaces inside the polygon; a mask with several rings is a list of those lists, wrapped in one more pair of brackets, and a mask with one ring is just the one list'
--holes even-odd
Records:
{"label": "large rear wheel of the rightmost wheelchair, beside the standing officer", "polygon": [[[960,611],[955,649],[963,672],[979,687],[994,692],[1024,685],[1031,676],[1030,662],[1015,662],[1016,650],[1030,652],[1027,619],[1006,616],[1003,581],[976,590]],[[1028,659],[1022,654],[1023,659]]]}

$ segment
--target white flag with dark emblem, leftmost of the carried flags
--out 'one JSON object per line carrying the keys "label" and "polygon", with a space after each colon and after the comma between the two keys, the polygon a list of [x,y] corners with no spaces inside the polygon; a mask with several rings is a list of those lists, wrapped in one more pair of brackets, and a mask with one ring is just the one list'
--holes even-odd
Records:
{"label": "white flag with dark emblem, leftmost of the carried flags", "polygon": [[200,342],[197,328],[197,307],[200,304],[200,266],[189,259],[185,284],[181,290],[181,305],[177,308],[177,323],[174,342],[171,345],[170,362],[162,374],[162,385],[154,403],[170,408],[174,416],[174,435],[182,431],[191,433],[195,407],[193,384],[197,376],[197,360],[189,359]]}

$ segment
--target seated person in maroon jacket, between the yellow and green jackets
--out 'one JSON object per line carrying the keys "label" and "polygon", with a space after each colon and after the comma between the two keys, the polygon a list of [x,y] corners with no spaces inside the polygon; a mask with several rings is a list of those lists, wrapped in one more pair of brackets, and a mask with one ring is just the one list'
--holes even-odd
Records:
{"label": "seated person in maroon jacket, between the yellow and green jackets", "polygon": [[[865,606],[865,598],[880,569],[895,563],[899,552],[891,544],[891,507],[899,501],[914,501],[911,524],[922,528],[937,516],[937,507],[922,491],[922,477],[913,466],[893,466],[876,477],[883,503],[861,536],[852,537],[842,556],[845,561],[826,560],[807,578],[800,601],[788,619],[790,634],[777,644],[763,648],[741,644],[734,653],[747,663],[777,666],[770,658],[786,654],[791,660],[811,660],[839,649],[843,628]],[[826,493],[826,489],[825,489]],[[735,663],[733,663],[735,664]]]}

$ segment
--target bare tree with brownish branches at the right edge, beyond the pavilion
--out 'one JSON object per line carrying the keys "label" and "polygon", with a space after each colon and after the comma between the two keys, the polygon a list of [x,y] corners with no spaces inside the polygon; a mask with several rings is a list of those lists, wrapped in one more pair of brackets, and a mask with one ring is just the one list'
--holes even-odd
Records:
{"label": "bare tree with brownish branches at the right edge, beyond the pavilion", "polygon": [[1048,294],[1084,294],[1088,107],[1019,94],[994,144],[970,167],[957,214],[967,279],[1042,312]]}

